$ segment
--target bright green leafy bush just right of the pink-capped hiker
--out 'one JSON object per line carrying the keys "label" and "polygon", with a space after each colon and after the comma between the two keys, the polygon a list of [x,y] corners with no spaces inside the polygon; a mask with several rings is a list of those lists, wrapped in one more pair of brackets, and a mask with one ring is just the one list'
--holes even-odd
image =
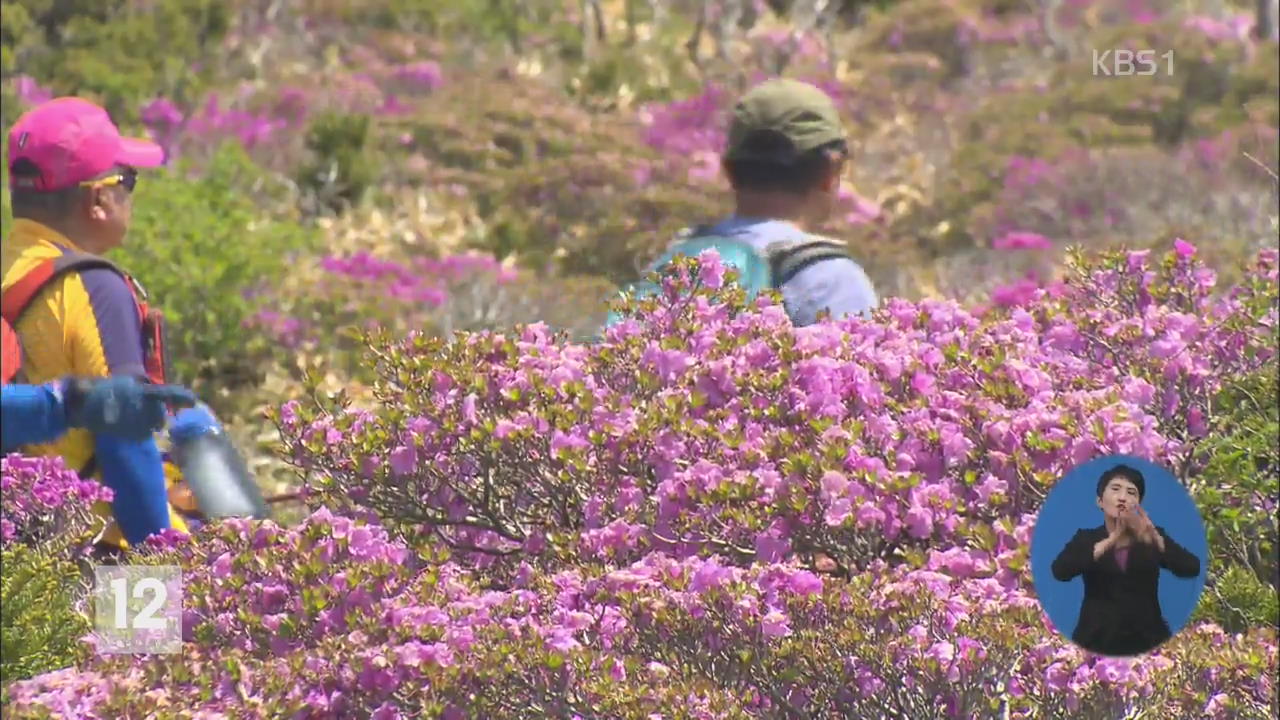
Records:
{"label": "bright green leafy bush just right of the pink-capped hiker", "polygon": [[262,218],[252,200],[262,182],[234,145],[201,177],[183,168],[145,177],[114,258],[165,311],[175,379],[214,407],[221,393],[261,380],[271,342],[246,333],[253,293],[287,275],[311,243],[301,225]]}

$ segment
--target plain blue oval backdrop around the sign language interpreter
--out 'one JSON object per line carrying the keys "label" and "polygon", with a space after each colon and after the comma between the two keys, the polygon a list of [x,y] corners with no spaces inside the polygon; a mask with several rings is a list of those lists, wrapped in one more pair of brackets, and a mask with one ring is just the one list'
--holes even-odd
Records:
{"label": "plain blue oval backdrop around the sign language interpreter", "polygon": [[1147,486],[1142,509],[1151,516],[1151,521],[1164,528],[1174,542],[1201,561],[1201,574],[1196,578],[1178,578],[1169,570],[1160,570],[1160,609],[1171,633],[1178,634],[1183,629],[1204,589],[1210,560],[1208,539],[1199,509],[1187,488],[1167,468],[1140,457],[1108,455],[1091,460],[1078,465],[1053,486],[1044,497],[1032,532],[1032,579],[1036,593],[1050,620],[1068,639],[1079,620],[1084,579],[1076,577],[1060,583],[1053,579],[1050,568],[1076,530],[1102,524],[1102,510],[1097,505],[1098,478],[1105,470],[1121,464],[1142,473]]}

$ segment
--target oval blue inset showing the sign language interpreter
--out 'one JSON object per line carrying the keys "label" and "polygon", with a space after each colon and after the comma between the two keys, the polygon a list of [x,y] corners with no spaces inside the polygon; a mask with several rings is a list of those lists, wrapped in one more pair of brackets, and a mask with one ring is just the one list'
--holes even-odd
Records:
{"label": "oval blue inset showing the sign language interpreter", "polygon": [[1176,634],[1204,589],[1208,539],[1166,468],[1124,455],[1068,473],[1032,533],[1032,577],[1060,633],[1098,655],[1144,655]]}

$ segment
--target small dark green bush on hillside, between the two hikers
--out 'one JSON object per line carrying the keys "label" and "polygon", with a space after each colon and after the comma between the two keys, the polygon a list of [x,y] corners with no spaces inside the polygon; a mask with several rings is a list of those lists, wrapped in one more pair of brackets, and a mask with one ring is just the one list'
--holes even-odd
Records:
{"label": "small dark green bush on hillside, between the two hikers", "polygon": [[369,128],[369,115],[333,113],[317,117],[307,128],[306,146],[312,160],[300,172],[298,184],[330,210],[358,202],[375,179]]}

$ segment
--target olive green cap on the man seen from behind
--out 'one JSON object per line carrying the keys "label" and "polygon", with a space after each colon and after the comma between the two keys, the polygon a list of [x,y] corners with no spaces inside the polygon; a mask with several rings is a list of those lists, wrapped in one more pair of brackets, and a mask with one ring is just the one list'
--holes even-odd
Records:
{"label": "olive green cap on the man seen from behind", "polygon": [[840,111],[826,92],[795,79],[771,79],[733,106],[724,156],[787,161],[845,138]]}

